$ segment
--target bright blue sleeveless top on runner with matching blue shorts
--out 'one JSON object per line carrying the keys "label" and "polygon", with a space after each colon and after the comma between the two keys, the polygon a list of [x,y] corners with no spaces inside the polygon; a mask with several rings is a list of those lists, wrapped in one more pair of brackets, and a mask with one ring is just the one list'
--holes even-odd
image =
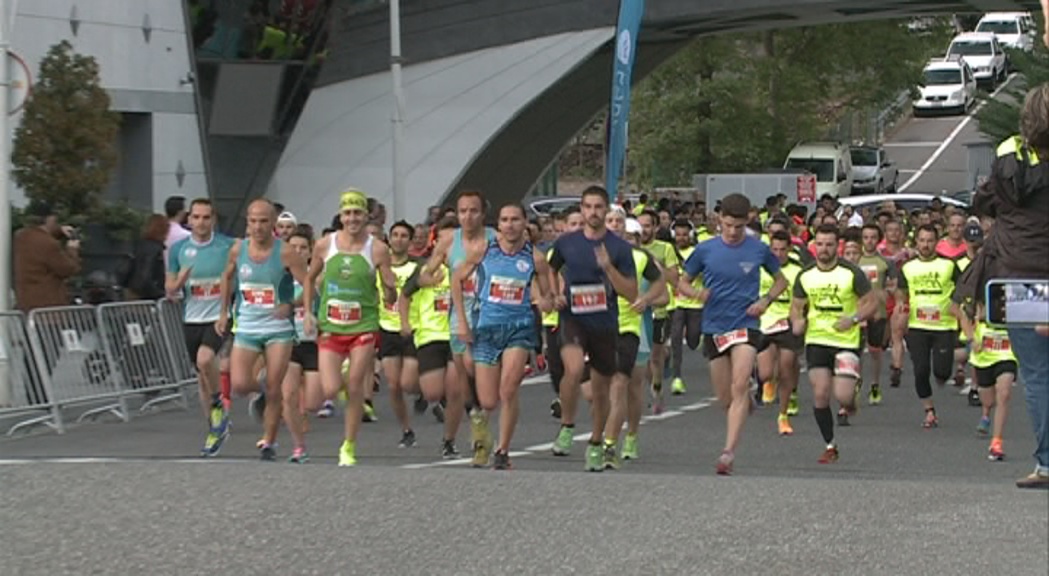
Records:
{"label": "bright blue sleeveless top on runner with matching blue shorts", "polygon": [[531,242],[524,242],[514,254],[504,252],[497,240],[489,242],[485,259],[477,266],[480,307],[477,328],[535,323],[531,298],[535,276],[532,251]]}

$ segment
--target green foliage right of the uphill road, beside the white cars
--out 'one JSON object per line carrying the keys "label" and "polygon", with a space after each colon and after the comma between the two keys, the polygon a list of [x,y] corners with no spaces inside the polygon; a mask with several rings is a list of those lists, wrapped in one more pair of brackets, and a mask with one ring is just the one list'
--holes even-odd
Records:
{"label": "green foliage right of the uphill road, beside the white cars", "polygon": [[976,114],[980,132],[996,144],[1020,131],[1020,110],[1027,87],[1049,82],[1049,50],[1042,42],[1035,42],[1030,52],[1010,50],[1009,60],[1020,78],[1009,83],[1001,97],[985,99],[984,107]]}

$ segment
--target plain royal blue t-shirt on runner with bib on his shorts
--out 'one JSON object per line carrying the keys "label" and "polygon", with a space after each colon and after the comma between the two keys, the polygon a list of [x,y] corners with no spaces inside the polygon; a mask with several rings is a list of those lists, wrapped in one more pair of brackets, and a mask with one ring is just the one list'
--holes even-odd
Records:
{"label": "plain royal blue t-shirt on runner with bib on his shorts", "polygon": [[703,286],[710,290],[703,306],[704,334],[758,328],[761,319],[747,316],[747,308],[759,298],[761,269],[779,272],[779,260],[765,242],[746,236],[729,246],[718,236],[695,247],[684,268],[690,278],[702,274]]}

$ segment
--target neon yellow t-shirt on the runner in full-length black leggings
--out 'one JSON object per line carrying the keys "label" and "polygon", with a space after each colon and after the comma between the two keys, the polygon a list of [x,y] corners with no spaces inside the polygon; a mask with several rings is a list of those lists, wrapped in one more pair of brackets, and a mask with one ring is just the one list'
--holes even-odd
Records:
{"label": "neon yellow t-shirt on the runner in full-length black leggings", "polygon": [[911,293],[908,327],[940,332],[958,329],[958,319],[950,314],[957,268],[954,260],[940,256],[903,264],[903,276]]}

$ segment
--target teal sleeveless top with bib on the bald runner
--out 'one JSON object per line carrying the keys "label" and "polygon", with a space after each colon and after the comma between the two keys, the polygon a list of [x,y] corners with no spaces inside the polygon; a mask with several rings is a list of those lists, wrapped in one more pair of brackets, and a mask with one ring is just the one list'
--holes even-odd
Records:
{"label": "teal sleeveless top with bib on the bald runner", "polygon": [[292,318],[276,317],[277,307],[291,304],[295,297],[292,275],[280,261],[281,247],[281,240],[275,239],[270,257],[257,262],[249,256],[249,241],[241,243],[233,316],[236,334],[269,336],[295,332]]}

